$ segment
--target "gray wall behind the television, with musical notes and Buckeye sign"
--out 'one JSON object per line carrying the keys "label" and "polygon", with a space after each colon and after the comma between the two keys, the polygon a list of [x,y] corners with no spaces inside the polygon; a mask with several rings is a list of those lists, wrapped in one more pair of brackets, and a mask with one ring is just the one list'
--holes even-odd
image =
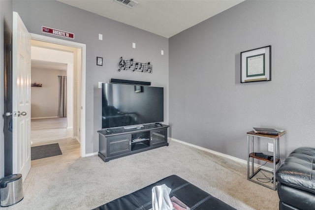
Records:
{"label": "gray wall behind the television, with musical notes and Buckeye sign", "polygon": [[[148,81],[152,86],[164,87],[164,121],[168,123],[167,38],[56,0],[14,0],[13,10],[19,13],[32,33],[47,35],[41,33],[41,27],[46,26],[72,32],[73,41],[86,44],[86,153],[98,151],[97,130],[101,129],[101,89],[97,88],[98,82],[117,78]],[[98,40],[99,33],[103,34],[102,41]],[[132,48],[132,42],[136,43],[136,49]],[[164,56],[160,55],[161,50],[164,50]],[[103,66],[96,65],[96,57],[103,57]],[[149,61],[153,64],[153,73],[119,72],[120,57],[144,63]]]}

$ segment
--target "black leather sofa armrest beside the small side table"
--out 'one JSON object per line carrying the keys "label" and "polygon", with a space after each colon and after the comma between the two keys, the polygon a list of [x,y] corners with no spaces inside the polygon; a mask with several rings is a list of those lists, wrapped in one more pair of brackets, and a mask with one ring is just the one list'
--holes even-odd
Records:
{"label": "black leather sofa armrest beside the small side table", "polygon": [[293,150],[276,171],[279,210],[315,210],[315,148]]}

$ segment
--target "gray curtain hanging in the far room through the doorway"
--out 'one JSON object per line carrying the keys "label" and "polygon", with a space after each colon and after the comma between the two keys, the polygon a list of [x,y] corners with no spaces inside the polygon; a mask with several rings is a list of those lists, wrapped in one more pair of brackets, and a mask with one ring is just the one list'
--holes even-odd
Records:
{"label": "gray curtain hanging in the far room through the doorway", "polygon": [[67,77],[58,76],[59,80],[59,102],[58,102],[58,117],[67,117]]}

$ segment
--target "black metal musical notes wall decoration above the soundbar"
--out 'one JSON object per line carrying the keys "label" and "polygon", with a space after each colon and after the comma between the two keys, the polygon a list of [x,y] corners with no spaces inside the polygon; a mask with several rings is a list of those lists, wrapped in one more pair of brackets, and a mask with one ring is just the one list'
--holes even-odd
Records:
{"label": "black metal musical notes wall decoration above the soundbar", "polygon": [[118,63],[118,71],[121,71],[121,70],[132,70],[132,71],[152,73],[152,65],[150,64],[150,62],[141,63],[141,62],[135,62],[133,61],[133,59],[123,60],[123,57],[120,57],[120,60]]}

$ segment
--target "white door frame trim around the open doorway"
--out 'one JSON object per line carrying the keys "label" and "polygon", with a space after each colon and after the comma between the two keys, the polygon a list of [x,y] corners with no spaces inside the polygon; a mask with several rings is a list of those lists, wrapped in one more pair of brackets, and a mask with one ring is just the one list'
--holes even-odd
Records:
{"label": "white door frame trim around the open doorway", "polygon": [[[45,41],[50,42],[54,44],[61,44],[66,45],[70,47],[76,47],[81,48],[81,124],[80,124],[80,146],[81,146],[81,157],[86,156],[86,150],[85,150],[85,131],[86,131],[86,124],[85,124],[85,113],[86,113],[86,44],[79,43],[79,42],[73,42],[69,40],[64,39],[58,39],[50,36],[44,36],[40,34],[30,33],[31,38],[34,40],[39,41]],[[32,52],[31,52],[32,53]]]}

